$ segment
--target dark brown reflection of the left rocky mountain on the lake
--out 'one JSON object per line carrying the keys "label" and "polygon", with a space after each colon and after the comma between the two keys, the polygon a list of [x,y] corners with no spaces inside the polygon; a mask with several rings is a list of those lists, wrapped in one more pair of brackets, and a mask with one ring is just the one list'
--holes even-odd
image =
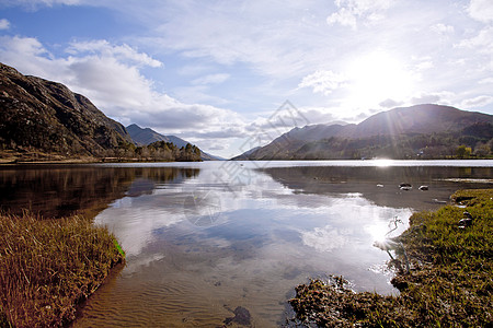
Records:
{"label": "dark brown reflection of the left rocky mountain on the lake", "polygon": [[152,192],[156,183],[197,176],[198,168],[31,165],[0,167],[1,210],[45,218],[95,215],[125,195]]}

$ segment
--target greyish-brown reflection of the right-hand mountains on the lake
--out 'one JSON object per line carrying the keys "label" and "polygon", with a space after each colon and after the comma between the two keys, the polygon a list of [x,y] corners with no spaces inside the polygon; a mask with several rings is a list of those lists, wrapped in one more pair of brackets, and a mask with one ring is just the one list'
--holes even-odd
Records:
{"label": "greyish-brown reflection of the right-hand mountains on the lake", "polygon": [[[351,194],[377,206],[432,210],[449,201],[459,188],[491,188],[492,167],[454,166],[307,166],[267,167],[268,174],[289,189],[302,194]],[[411,184],[402,190],[399,184]],[[427,191],[419,190],[428,186]]]}

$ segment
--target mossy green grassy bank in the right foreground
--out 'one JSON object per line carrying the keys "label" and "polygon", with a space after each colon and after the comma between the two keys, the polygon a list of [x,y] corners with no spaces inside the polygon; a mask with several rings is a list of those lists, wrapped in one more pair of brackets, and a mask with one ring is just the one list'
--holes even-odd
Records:
{"label": "mossy green grassy bank in the right foreground", "polygon": [[[341,277],[312,280],[289,301],[295,320],[322,327],[492,327],[493,189],[451,198],[467,208],[415,213],[400,236],[411,271],[392,280],[399,296],[354,293]],[[459,227],[466,210],[472,225]]]}

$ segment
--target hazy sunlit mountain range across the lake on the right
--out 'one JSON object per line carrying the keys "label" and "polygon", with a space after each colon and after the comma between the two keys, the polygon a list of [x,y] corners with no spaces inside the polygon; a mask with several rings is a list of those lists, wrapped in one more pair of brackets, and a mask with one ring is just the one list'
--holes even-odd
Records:
{"label": "hazy sunlit mountain range across the lake on the right", "polygon": [[492,115],[425,104],[378,113],[358,125],[294,128],[233,160],[450,157],[461,144],[484,155],[492,138]]}

